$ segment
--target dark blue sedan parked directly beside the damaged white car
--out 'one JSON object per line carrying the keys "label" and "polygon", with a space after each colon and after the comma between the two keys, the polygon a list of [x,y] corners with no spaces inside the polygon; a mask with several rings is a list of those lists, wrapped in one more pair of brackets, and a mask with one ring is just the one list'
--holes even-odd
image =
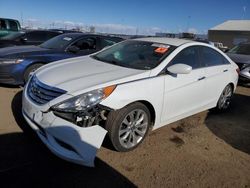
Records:
{"label": "dark blue sedan parked directly beside the damaged white car", "polygon": [[67,33],[40,46],[16,46],[0,49],[0,83],[23,85],[29,74],[44,64],[95,53],[123,39],[118,37]]}

